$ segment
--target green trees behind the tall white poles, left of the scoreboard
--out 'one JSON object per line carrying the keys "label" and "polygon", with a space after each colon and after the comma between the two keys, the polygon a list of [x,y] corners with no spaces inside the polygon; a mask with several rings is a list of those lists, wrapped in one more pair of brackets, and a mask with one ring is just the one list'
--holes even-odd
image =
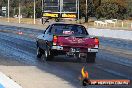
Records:
{"label": "green trees behind the tall white poles, left of the scoreboard", "polygon": [[[41,17],[41,0],[36,1],[36,17]],[[10,16],[18,15],[19,2],[21,7],[21,14],[24,17],[33,17],[34,0],[10,0]],[[0,10],[2,7],[7,7],[8,0],[0,1]],[[0,11],[1,13],[1,11]],[[0,14],[1,15],[1,14]]]}

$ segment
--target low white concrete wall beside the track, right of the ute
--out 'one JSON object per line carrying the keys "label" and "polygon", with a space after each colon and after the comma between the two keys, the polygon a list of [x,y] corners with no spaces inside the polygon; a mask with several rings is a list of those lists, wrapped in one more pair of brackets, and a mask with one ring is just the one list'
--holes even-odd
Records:
{"label": "low white concrete wall beside the track, right of the ute", "polygon": [[90,35],[132,40],[132,31],[88,28]]}

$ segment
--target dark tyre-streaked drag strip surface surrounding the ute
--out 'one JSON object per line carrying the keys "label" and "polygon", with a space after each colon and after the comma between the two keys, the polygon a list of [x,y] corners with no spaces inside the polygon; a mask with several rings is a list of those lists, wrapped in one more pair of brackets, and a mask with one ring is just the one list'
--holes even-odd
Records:
{"label": "dark tyre-streaked drag strip surface surrounding the ute", "polygon": [[88,71],[90,79],[132,80],[132,41],[100,37],[100,50],[96,63],[83,61],[79,63],[75,58],[66,56],[57,56],[54,60],[46,62],[36,58],[35,40],[42,33],[43,30],[0,25],[0,65],[35,66],[41,71],[67,81],[75,88],[81,88],[79,77],[83,66]]}

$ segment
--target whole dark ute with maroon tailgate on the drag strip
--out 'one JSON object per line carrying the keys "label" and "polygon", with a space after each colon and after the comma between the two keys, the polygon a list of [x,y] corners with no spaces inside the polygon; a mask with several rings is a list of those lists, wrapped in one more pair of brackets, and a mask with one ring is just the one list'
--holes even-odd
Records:
{"label": "whole dark ute with maroon tailgate on the drag strip", "polygon": [[86,28],[77,24],[54,23],[49,25],[44,34],[37,37],[37,57],[44,55],[45,60],[54,56],[67,55],[82,58],[86,62],[95,62],[99,48],[99,40],[91,37]]}

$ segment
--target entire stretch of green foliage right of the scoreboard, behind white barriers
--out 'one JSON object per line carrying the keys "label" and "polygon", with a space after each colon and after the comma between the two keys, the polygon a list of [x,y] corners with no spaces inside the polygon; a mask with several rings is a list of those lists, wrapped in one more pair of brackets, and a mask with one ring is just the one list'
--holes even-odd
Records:
{"label": "entire stretch of green foliage right of the scoreboard, behind white barriers", "polygon": [[[132,0],[88,0],[89,17],[127,19],[132,18]],[[85,0],[81,0],[81,14],[85,14]],[[85,14],[86,15],[86,14]]]}

